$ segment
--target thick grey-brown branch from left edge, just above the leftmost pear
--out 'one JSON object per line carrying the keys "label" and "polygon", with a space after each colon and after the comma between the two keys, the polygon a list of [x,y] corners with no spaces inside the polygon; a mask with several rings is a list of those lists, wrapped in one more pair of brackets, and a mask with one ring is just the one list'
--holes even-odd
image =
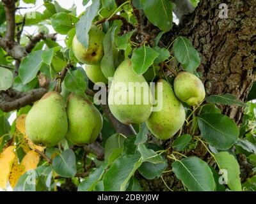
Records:
{"label": "thick grey-brown branch from left edge, just above the leftmost pear", "polygon": [[4,112],[17,110],[42,98],[47,89],[33,89],[28,92],[19,92],[14,89],[0,92],[0,109]]}

